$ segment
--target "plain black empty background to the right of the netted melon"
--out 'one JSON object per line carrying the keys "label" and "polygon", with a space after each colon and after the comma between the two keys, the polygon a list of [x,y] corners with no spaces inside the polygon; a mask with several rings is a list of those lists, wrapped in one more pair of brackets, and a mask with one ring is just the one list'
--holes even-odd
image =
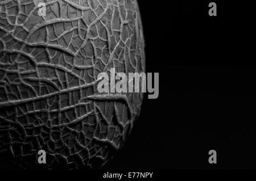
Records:
{"label": "plain black empty background to the right of the netted melon", "polygon": [[[255,10],[246,1],[139,0],[158,99],[110,169],[255,169]],[[254,32],[254,33],[253,33]],[[210,165],[208,151],[217,151]]]}

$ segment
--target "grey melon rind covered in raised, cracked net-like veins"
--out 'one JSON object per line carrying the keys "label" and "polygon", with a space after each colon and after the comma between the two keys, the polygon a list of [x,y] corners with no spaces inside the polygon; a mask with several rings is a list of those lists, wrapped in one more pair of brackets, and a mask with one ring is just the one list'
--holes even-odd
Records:
{"label": "grey melon rind covered in raised, cracked net-like veins", "polygon": [[41,167],[43,149],[47,169],[104,166],[142,104],[97,92],[100,72],[145,71],[137,1],[5,0],[0,11],[0,158]]}

